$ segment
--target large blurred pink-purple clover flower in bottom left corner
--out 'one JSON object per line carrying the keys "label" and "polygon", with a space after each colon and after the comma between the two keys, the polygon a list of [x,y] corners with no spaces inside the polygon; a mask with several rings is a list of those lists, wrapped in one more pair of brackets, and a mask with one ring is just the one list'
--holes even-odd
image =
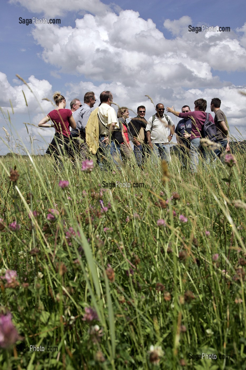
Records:
{"label": "large blurred pink-purple clover flower in bottom left corner", "polygon": [[0,315],[0,347],[8,348],[18,340],[18,332],[12,323],[11,313]]}

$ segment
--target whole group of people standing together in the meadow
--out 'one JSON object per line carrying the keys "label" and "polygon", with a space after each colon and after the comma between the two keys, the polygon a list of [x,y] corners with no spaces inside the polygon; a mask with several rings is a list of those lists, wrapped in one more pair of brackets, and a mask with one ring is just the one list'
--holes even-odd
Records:
{"label": "whole group of people standing together in the meadow", "polygon": [[73,99],[71,109],[66,109],[66,100],[59,92],[55,92],[53,98],[57,109],[49,112],[38,126],[55,128],[55,136],[46,153],[54,154],[57,161],[61,155],[74,157],[75,152],[78,152],[83,160],[96,155],[100,169],[104,169],[106,159],[115,162],[116,166],[122,161],[142,166],[149,156],[155,161],[161,158],[169,163],[170,141],[175,133],[182,166],[187,167],[190,158],[191,169],[195,172],[199,155],[204,157],[205,162],[211,158],[201,143],[202,127],[206,120],[216,127],[217,143],[213,159],[223,150],[230,149],[228,125],[225,114],[219,109],[221,100],[218,98],[211,101],[211,111],[215,112],[214,121],[211,114],[205,113],[204,99],[194,102],[194,112],[191,112],[188,105],[184,105],[181,112],[167,107],[167,112],[182,118],[176,128],[171,117],[164,113],[165,108],[161,103],[156,105],[156,113],[148,121],[144,118],[146,109],[140,105],[137,107],[137,117],[127,122],[128,108],[119,108],[116,115],[111,106],[113,95],[110,91],[100,94],[99,107],[93,111],[96,102],[93,91],[86,92],[83,104],[79,98]]}

